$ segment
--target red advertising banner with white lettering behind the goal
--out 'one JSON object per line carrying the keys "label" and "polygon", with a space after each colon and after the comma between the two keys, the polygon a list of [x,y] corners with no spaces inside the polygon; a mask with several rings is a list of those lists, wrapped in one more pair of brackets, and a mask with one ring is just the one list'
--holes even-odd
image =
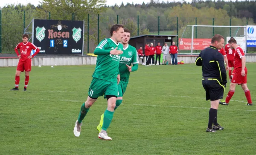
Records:
{"label": "red advertising banner with white lettering behind the goal", "polygon": [[[212,39],[193,39],[193,50],[203,50],[210,46]],[[180,38],[179,50],[191,50],[192,39]]]}

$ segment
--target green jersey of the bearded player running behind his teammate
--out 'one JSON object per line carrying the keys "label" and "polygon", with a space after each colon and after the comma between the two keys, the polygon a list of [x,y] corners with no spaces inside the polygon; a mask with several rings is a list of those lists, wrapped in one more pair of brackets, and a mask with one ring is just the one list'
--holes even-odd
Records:
{"label": "green jersey of the bearded player running behind his teammate", "polygon": [[137,51],[133,46],[128,45],[126,48],[123,48],[122,51],[123,54],[121,55],[119,63],[120,80],[128,83],[130,72],[126,65],[131,66],[131,64],[133,64],[131,71],[134,72],[138,69],[139,60]]}

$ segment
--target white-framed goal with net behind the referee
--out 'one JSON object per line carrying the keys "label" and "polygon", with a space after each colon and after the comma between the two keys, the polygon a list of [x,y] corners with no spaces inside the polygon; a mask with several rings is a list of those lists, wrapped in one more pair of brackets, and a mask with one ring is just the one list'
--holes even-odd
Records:
{"label": "white-framed goal with net behind the referee", "polygon": [[211,38],[215,34],[221,34],[227,44],[230,37],[237,40],[238,45],[246,53],[246,26],[186,26],[182,37],[179,38],[178,49],[180,54],[198,55],[201,50],[209,47]]}

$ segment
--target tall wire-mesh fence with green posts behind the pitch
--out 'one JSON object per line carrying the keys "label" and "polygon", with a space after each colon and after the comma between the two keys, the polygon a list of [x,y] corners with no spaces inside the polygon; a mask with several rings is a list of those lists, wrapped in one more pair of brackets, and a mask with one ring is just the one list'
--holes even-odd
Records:
{"label": "tall wire-mesh fence with green posts behind the pitch", "polygon": [[[178,43],[187,25],[218,25],[218,26],[245,26],[255,25],[256,21],[246,18],[198,18],[198,17],[163,17],[148,18],[141,16],[120,17],[119,15],[105,16],[103,14],[87,14],[85,17],[78,17],[76,14],[64,14],[63,17],[55,16],[51,12],[40,14],[36,10],[31,11],[2,11],[0,10],[0,53],[15,53],[14,48],[21,41],[24,30],[31,20],[84,20],[84,53],[92,53],[98,43],[110,37],[110,28],[113,24],[123,24],[131,30],[131,36],[141,34],[155,35],[178,35],[175,38]],[[197,28],[198,29],[198,28]],[[32,26],[26,32],[32,32]],[[196,30],[197,31],[197,30]],[[231,31],[230,31],[231,32]],[[214,32],[213,32],[214,34]],[[197,35],[197,32],[195,33]],[[250,48],[248,51],[256,51]]]}

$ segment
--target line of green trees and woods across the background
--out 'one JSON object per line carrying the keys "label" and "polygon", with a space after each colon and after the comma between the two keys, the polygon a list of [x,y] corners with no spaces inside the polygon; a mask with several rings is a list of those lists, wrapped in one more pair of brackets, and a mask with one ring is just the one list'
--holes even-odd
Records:
{"label": "line of green trees and woods across the background", "polygon": [[[197,22],[198,25],[230,25],[244,26],[256,23],[256,1],[201,1],[192,3],[159,2],[127,3],[120,6],[106,6],[106,0],[42,0],[34,6],[8,5],[2,10],[2,51],[12,51],[20,41],[25,27],[32,18],[52,20],[84,20],[87,36],[87,14],[89,16],[89,47],[95,48],[98,42],[98,14],[99,14],[99,41],[109,36],[109,28],[115,23],[124,24],[131,30],[131,36],[150,34],[160,31],[160,34],[179,34],[181,37],[187,25]],[[25,20],[24,20],[25,11]],[[50,13],[49,13],[50,12]],[[118,15],[118,18],[117,18]],[[139,19],[138,19],[139,16]],[[178,23],[177,23],[178,17]],[[139,21],[139,23],[138,23]],[[32,26],[27,29],[32,32]],[[84,37],[85,46],[87,37]],[[86,49],[86,48],[85,48]]]}

